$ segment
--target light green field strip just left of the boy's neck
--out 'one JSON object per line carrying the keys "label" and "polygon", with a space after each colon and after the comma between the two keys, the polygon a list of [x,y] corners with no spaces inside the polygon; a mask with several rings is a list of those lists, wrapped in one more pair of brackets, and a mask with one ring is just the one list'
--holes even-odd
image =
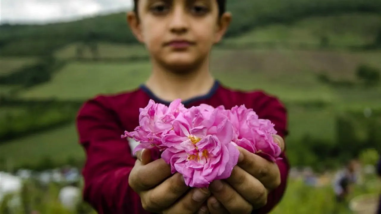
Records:
{"label": "light green field strip just left of the boy's neck", "polygon": [[136,88],[148,77],[144,63],[81,63],[67,65],[53,79],[20,94],[22,98],[88,99],[96,94]]}

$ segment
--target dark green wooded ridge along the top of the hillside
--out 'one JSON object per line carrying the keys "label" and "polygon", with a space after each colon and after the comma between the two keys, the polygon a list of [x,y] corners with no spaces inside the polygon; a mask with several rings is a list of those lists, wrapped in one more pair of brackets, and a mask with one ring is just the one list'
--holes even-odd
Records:
{"label": "dark green wooded ridge along the top of the hillside", "polygon": [[[234,37],[271,23],[292,23],[300,18],[350,12],[380,13],[379,0],[240,0],[228,1],[234,15],[226,37]],[[48,25],[0,26],[0,55],[46,55],[74,42],[137,43],[127,27],[125,13]],[[380,26],[381,28],[381,26]],[[381,36],[381,29],[380,35]],[[378,46],[377,37],[370,47]],[[327,41],[322,38],[322,45]],[[369,48],[369,47],[368,47]]]}

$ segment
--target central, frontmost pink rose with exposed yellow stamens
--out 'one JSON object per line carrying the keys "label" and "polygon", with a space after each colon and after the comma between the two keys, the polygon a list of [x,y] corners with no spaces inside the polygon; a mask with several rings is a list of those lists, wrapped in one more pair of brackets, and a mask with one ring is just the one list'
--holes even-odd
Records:
{"label": "central, frontmost pink rose with exposed yellow stamens", "polygon": [[208,187],[213,180],[229,177],[237,164],[239,151],[232,139],[232,124],[221,109],[192,107],[181,112],[173,130],[163,136],[168,148],[162,158],[190,187]]}

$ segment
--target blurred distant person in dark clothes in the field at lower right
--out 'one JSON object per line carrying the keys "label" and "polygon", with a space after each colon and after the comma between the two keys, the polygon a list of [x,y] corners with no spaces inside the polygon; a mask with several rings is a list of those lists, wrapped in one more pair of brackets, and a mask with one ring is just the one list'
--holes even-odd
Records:
{"label": "blurred distant person in dark clothes in the field at lower right", "polygon": [[336,174],[333,182],[337,203],[346,201],[352,184],[356,183],[357,180],[357,161],[351,160],[343,170]]}

